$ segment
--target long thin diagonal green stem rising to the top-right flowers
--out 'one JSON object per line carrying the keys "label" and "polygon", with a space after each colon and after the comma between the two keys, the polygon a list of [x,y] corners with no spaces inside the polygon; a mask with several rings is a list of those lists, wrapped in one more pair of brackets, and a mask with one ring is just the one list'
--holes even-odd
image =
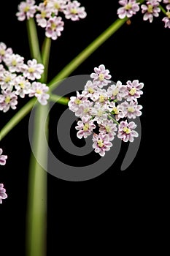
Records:
{"label": "long thin diagonal green stem rising to the top-right flowers", "polygon": [[75,69],[77,69],[77,67],[80,66],[80,64],[82,64],[83,61],[85,61],[85,59],[88,59],[88,57],[107,39],[109,39],[109,37],[111,37],[112,34],[117,31],[117,29],[120,29],[120,27],[123,26],[126,20],[128,20],[128,18],[115,20],[115,22],[112,23],[112,25],[109,26],[109,28],[106,29],[99,37],[91,42],[90,45],[85,48],[85,50],[82,50],[82,52],[77,57],[75,57],[69,64],[67,64],[66,67],[64,67],[61,72],[59,72],[58,75],[56,75],[55,78],[50,81],[50,90],[55,89],[59,85],[59,80],[68,77]]}

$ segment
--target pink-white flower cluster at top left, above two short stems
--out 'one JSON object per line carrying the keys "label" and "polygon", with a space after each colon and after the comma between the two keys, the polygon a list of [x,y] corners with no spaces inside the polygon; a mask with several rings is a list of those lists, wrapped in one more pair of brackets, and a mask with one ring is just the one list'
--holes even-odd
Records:
{"label": "pink-white flower cluster at top left, above two short stems", "polygon": [[18,6],[18,20],[33,18],[35,16],[38,26],[45,28],[46,37],[53,40],[61,36],[63,20],[61,13],[66,19],[80,20],[86,17],[85,7],[80,7],[78,1],[70,0],[45,0],[36,5],[34,0],[22,1]]}

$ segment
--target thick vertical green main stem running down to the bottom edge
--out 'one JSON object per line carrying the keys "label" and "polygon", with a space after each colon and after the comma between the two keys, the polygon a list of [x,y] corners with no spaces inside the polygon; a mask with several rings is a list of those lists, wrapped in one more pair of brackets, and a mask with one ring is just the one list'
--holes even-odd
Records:
{"label": "thick vertical green main stem running down to the bottom edge", "polygon": [[[28,207],[26,214],[26,255],[46,256],[47,244],[47,135],[48,105],[38,105],[34,118],[34,136],[28,174]],[[41,162],[41,165],[39,165]]]}

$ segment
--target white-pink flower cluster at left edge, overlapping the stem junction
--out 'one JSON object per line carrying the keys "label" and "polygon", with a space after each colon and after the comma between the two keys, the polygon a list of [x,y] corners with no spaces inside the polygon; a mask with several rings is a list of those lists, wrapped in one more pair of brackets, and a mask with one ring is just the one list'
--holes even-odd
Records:
{"label": "white-pink flower cluster at left edge, overlapping the stem junction", "polygon": [[36,97],[42,105],[47,104],[50,97],[45,83],[34,80],[41,78],[44,66],[38,64],[36,59],[24,63],[24,58],[13,53],[0,42],[0,110],[7,112],[9,108],[16,109],[18,97]]}

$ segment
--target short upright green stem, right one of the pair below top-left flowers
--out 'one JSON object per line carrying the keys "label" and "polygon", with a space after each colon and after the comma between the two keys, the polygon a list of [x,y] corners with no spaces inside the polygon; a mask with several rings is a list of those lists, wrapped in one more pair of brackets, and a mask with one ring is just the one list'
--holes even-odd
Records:
{"label": "short upright green stem, right one of the pair below top-left flowers", "polygon": [[42,45],[42,64],[45,66],[45,71],[42,74],[41,81],[43,83],[47,83],[47,73],[48,73],[48,64],[50,59],[50,46],[51,46],[51,39],[45,37],[45,41]]}

